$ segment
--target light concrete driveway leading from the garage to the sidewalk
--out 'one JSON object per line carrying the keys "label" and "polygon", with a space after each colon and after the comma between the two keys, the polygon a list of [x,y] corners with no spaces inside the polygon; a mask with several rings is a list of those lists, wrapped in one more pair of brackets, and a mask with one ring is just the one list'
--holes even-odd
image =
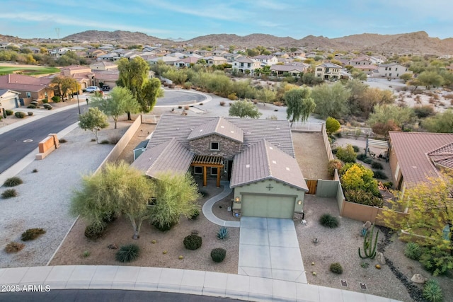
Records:
{"label": "light concrete driveway leading from the garage to the sidewalk", "polygon": [[242,217],[238,274],[306,284],[294,221]]}

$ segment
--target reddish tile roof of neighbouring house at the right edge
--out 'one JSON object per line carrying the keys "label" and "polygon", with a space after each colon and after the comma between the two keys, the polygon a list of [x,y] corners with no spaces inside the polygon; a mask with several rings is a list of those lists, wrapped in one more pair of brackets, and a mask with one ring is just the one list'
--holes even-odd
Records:
{"label": "reddish tile roof of neighbouring house at the right edge", "polygon": [[427,176],[437,176],[428,153],[453,143],[453,134],[445,133],[389,132],[389,136],[392,152],[395,152],[408,184],[423,182]]}

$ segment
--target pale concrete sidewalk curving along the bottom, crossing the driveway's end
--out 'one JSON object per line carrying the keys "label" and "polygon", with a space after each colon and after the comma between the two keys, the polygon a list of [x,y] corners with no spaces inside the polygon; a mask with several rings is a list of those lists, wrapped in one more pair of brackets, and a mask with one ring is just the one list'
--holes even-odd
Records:
{"label": "pale concrete sidewalk curving along the bottom, crossing the driveway's end", "polygon": [[[125,289],[166,291],[246,301],[393,302],[355,291],[260,277],[185,269],[129,266],[18,267],[0,269],[0,284],[52,289]],[[1,299],[1,294],[0,294]]]}

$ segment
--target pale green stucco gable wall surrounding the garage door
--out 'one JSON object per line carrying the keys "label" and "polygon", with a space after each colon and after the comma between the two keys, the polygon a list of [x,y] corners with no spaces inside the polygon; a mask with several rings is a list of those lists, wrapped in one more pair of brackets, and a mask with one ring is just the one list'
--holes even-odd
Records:
{"label": "pale green stucco gable wall surrounding the garage door", "polygon": [[[271,186],[270,190],[268,186]],[[302,208],[304,207],[304,196],[305,192],[302,190],[297,190],[294,187],[290,187],[289,185],[285,185],[282,182],[277,182],[275,180],[263,180],[254,182],[250,185],[243,185],[241,187],[234,188],[234,199],[239,197],[242,200],[242,194],[252,193],[252,194],[281,194],[281,195],[292,195],[296,197],[295,205],[294,205],[294,212],[300,213],[302,212]],[[302,200],[302,204],[297,204],[298,200]],[[237,204],[236,202],[233,203],[233,209],[241,209],[241,204]]]}

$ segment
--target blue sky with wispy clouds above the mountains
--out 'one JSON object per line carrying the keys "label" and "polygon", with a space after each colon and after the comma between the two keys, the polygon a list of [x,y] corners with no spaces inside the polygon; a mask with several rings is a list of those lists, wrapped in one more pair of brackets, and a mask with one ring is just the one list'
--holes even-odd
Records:
{"label": "blue sky with wispy clouds above the mountains", "polygon": [[[265,33],[301,39],[425,30],[453,36],[452,0],[0,0],[0,34],[57,38],[84,30],[155,37]],[[7,9],[5,9],[7,8]]]}

